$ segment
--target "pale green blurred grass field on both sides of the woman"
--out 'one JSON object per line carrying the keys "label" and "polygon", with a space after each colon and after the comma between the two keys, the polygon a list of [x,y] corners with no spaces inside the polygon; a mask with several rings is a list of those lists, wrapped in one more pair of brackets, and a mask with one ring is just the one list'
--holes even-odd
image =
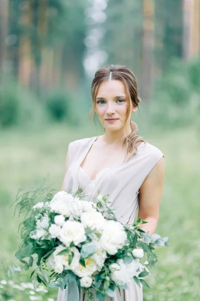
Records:
{"label": "pale green blurred grass field on both sides of the woman", "polygon": [[[49,184],[61,188],[67,145],[77,138],[97,135],[88,129],[75,130],[53,126],[35,132],[0,132],[0,298],[1,300],[56,300],[57,290],[34,292],[21,286],[29,282],[29,271],[6,275],[16,264],[14,252],[20,243],[17,227],[21,218],[13,218],[18,188],[29,189],[40,177],[49,175]],[[153,132],[144,138],[165,155],[165,183],[156,232],[169,237],[169,248],[157,247],[159,263],[147,278],[150,289],[143,289],[144,301],[200,300],[200,142],[194,128]],[[15,287],[11,280],[20,284]],[[31,298],[33,296],[33,298]]]}

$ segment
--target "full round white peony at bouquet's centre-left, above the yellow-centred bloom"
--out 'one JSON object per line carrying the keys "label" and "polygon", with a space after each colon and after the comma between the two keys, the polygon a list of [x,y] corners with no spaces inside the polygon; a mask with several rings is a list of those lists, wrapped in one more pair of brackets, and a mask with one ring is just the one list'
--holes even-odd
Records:
{"label": "full round white peony at bouquet's centre-left, above the yellow-centred bloom", "polygon": [[86,240],[84,226],[75,221],[64,222],[60,234],[59,240],[63,242],[67,247],[73,241],[74,245],[79,244]]}

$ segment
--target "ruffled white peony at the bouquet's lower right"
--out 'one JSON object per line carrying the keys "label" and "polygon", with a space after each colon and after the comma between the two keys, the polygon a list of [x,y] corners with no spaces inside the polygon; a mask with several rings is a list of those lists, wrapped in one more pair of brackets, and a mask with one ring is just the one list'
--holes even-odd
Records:
{"label": "ruffled white peony at the bouquet's lower right", "polygon": [[138,261],[132,260],[129,264],[124,264],[123,259],[117,260],[120,269],[114,270],[110,273],[111,279],[117,285],[123,285],[129,282],[133,276],[137,275]]}

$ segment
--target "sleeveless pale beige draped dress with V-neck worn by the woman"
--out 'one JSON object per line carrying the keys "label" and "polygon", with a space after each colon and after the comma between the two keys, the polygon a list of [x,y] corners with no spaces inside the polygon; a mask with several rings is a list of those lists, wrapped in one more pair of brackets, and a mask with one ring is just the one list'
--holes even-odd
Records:
{"label": "sleeveless pale beige draped dress with V-neck worn by the woman", "polygon": [[[64,179],[64,190],[74,193],[78,188],[82,188],[84,193],[91,196],[91,201],[94,201],[99,189],[100,194],[109,194],[110,206],[118,208],[115,211],[117,218],[121,222],[132,223],[138,208],[139,188],[153,166],[164,155],[157,147],[148,142],[142,142],[137,153],[128,162],[102,169],[91,181],[80,165],[97,137],[78,139],[69,143],[69,161]],[[107,296],[104,300],[142,301],[142,286],[139,288],[132,280],[128,287],[128,290],[121,290],[121,296],[116,290],[115,297]],[[66,292],[67,288],[63,291],[59,288],[57,301],[67,301]],[[83,301],[82,291],[81,301]],[[95,297],[94,301],[97,301]]]}

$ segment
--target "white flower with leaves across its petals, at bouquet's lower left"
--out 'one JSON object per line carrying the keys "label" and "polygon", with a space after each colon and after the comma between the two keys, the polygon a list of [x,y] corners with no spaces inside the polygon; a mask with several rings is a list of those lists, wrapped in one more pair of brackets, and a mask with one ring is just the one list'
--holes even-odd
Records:
{"label": "white flower with leaves across its petals, at bouquet's lower left", "polygon": [[[80,260],[80,253],[78,251],[78,249],[76,249],[76,247],[71,247],[70,251],[64,255],[57,255],[59,252],[61,252],[62,250],[65,250],[66,247],[59,245],[56,247],[55,251],[53,252],[52,256],[50,256],[48,258],[48,264],[53,267],[55,263],[60,263],[64,266],[65,269],[74,269],[76,267],[78,267],[79,265],[79,260]],[[68,263],[68,256],[69,254],[73,253],[73,259],[69,265]]]}

